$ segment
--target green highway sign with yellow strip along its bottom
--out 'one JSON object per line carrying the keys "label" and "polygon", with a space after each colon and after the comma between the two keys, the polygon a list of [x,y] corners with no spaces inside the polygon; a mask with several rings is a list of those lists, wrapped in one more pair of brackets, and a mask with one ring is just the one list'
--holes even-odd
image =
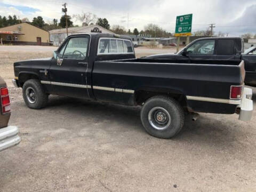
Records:
{"label": "green highway sign with yellow strip along its bottom", "polygon": [[175,36],[189,36],[192,28],[192,15],[180,15],[176,19]]}

